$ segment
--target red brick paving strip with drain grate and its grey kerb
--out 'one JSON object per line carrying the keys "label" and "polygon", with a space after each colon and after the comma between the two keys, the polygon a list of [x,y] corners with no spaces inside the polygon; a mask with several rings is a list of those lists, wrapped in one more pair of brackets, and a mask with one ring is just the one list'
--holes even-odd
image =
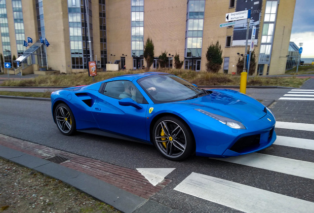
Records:
{"label": "red brick paving strip with drain grate and its grey kerb", "polygon": [[1,134],[0,157],[59,179],[124,213],[181,213],[150,200],[170,179],[154,186],[136,170]]}

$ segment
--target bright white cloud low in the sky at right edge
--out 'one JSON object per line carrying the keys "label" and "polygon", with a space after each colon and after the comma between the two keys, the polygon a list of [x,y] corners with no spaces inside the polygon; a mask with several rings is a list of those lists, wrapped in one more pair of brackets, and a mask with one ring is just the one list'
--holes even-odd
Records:
{"label": "bright white cloud low in the sky at right edge", "polygon": [[297,46],[303,43],[302,58],[314,58],[314,32],[291,34],[290,41]]}

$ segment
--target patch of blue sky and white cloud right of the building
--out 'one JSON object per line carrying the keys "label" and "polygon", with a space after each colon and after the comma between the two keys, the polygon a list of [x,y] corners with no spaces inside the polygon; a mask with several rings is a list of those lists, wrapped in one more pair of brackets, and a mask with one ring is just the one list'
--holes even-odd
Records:
{"label": "patch of blue sky and white cloud right of the building", "polygon": [[296,0],[290,41],[303,43],[302,58],[314,58],[314,0]]}

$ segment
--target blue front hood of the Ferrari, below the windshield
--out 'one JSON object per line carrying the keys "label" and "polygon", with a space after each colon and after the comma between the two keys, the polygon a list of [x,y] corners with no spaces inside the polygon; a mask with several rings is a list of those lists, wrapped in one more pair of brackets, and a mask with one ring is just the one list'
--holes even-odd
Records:
{"label": "blue front hood of the Ferrari, below the windshield", "polygon": [[255,99],[233,90],[215,90],[211,94],[192,100],[177,102],[237,121],[258,120],[267,114],[264,105]]}

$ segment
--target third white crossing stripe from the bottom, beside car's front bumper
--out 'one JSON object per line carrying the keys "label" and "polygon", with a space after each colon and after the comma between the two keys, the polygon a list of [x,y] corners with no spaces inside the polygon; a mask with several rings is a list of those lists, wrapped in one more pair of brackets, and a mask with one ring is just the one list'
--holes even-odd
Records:
{"label": "third white crossing stripe from the bottom, beside car's front bumper", "polygon": [[277,136],[276,145],[314,150],[314,140]]}

